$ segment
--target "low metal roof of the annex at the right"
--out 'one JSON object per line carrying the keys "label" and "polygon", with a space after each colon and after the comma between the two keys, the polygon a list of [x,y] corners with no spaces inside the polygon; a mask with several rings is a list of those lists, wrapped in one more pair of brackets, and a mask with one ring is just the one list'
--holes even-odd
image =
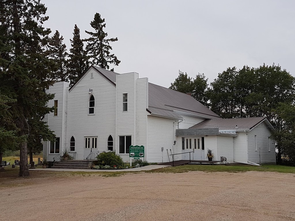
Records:
{"label": "low metal roof of the annex at the right", "polygon": [[[220,130],[248,130],[264,121],[266,117],[211,119],[198,123],[189,129],[219,128]],[[266,120],[267,121],[267,120]],[[269,121],[268,126],[271,127]],[[237,126],[237,127],[236,127]]]}

